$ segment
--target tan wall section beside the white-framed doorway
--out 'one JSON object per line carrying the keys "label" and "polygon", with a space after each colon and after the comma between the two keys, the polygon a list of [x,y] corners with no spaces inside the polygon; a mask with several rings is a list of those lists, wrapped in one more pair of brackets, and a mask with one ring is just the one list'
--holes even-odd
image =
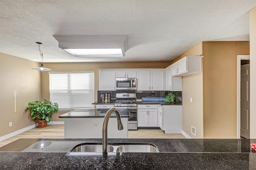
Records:
{"label": "tan wall section beside the white-framed doorway", "polygon": [[237,55],[249,41],[203,42],[204,138],[236,138]]}

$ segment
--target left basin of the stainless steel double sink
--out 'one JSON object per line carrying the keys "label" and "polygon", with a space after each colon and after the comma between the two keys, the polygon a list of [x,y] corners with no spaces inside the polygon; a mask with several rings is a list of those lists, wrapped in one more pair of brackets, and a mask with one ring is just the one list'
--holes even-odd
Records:
{"label": "left basin of the stainless steel double sink", "polygon": [[[108,152],[113,152],[114,147],[108,145]],[[102,152],[102,145],[80,145],[74,147],[70,152]]]}

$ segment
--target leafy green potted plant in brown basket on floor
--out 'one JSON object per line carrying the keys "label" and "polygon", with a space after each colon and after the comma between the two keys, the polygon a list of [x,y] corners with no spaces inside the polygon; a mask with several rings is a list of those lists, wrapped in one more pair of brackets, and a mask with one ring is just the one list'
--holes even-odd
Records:
{"label": "leafy green potted plant in brown basket on floor", "polygon": [[29,102],[26,111],[30,110],[30,115],[34,121],[38,121],[38,128],[46,127],[52,114],[59,110],[57,103],[49,100]]}

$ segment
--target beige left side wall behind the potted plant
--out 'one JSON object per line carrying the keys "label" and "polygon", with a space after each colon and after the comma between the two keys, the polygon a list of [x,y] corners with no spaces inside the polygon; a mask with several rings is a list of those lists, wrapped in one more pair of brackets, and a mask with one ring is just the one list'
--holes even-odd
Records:
{"label": "beige left side wall behind the potted plant", "polygon": [[41,100],[40,72],[31,70],[38,66],[34,61],[0,53],[0,137],[35,123],[25,108],[28,102]]}

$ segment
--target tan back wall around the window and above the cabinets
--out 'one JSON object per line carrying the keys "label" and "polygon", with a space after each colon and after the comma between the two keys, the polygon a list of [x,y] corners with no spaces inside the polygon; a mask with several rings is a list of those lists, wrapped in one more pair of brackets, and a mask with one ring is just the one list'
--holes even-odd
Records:
{"label": "tan back wall around the window and above the cabinets", "polygon": [[[126,62],[126,63],[45,63],[53,72],[94,71],[95,101],[99,90],[99,68],[166,68],[170,62]],[[49,100],[49,74],[42,72],[42,99]],[[58,118],[65,112],[54,113],[51,121],[64,121]]]}

